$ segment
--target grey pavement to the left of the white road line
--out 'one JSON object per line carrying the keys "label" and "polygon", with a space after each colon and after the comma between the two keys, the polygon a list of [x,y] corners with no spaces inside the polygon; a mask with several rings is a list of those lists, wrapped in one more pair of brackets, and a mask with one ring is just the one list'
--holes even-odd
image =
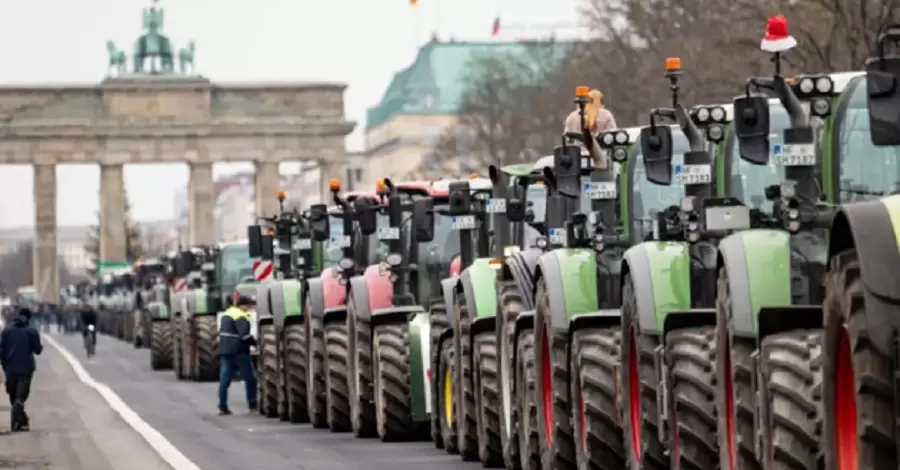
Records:
{"label": "grey pavement to the left of the white road line", "polygon": [[171,470],[46,344],[27,410],[31,431],[10,433],[8,401],[0,395],[0,468]]}

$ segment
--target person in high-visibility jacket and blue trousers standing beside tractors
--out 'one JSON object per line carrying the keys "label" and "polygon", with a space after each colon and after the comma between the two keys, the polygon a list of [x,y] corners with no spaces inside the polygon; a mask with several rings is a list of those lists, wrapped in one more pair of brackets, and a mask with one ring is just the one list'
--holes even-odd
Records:
{"label": "person in high-visibility jacket and blue trousers standing beside tractors", "polygon": [[230,415],[228,409],[228,387],[234,373],[240,371],[247,393],[247,406],[256,411],[256,371],[250,357],[250,347],[256,345],[256,338],[250,333],[250,314],[247,309],[255,305],[250,297],[235,294],[234,302],[219,325],[219,415]]}

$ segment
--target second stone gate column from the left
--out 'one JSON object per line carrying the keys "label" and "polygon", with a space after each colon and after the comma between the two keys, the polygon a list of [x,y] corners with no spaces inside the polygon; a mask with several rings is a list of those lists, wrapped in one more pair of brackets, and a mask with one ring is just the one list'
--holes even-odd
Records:
{"label": "second stone gate column from the left", "polygon": [[125,176],[121,164],[100,165],[100,264],[128,262]]}

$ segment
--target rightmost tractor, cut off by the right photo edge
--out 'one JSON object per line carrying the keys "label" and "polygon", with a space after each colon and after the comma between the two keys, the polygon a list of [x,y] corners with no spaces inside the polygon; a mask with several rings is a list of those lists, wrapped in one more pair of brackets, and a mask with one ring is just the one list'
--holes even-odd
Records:
{"label": "rightmost tractor, cut off by the right photo edge", "polygon": [[865,75],[837,102],[830,129],[841,158],[840,194],[853,192],[829,232],[822,344],[828,469],[900,467],[900,57],[886,52],[898,39],[897,26],[881,33]]}

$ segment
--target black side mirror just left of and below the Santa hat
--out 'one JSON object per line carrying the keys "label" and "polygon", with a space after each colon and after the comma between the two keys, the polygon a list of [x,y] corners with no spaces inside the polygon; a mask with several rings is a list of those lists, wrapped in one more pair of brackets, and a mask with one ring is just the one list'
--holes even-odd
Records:
{"label": "black side mirror just left of and below the Santa hat", "polygon": [[769,163],[769,100],[763,96],[734,99],[734,133],[741,158],[754,165]]}

